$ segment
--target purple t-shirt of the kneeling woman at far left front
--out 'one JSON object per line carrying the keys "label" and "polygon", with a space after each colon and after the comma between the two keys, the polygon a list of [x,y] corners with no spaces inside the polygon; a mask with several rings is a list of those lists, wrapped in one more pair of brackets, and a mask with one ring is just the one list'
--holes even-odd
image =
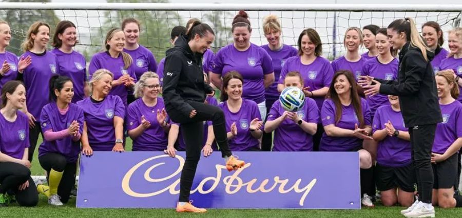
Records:
{"label": "purple t-shirt of the kneeling woman at far left front", "polygon": [[10,122],[0,113],[0,151],[12,158],[23,159],[24,149],[30,146],[29,118],[21,111],[17,111],[16,116],[16,120]]}

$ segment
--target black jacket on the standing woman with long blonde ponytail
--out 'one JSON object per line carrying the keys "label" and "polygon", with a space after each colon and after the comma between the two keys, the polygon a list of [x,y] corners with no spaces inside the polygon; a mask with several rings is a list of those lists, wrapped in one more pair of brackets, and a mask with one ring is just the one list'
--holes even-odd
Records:
{"label": "black jacket on the standing woman with long blonde ponytail", "polygon": [[435,75],[430,60],[434,53],[427,52],[428,61],[420,49],[410,42],[399,52],[398,80],[376,79],[380,94],[399,96],[399,105],[406,127],[442,122],[438,103]]}

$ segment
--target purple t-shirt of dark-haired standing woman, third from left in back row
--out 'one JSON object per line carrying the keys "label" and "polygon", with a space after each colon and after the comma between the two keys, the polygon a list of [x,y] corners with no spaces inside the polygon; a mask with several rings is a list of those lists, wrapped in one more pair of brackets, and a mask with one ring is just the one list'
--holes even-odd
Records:
{"label": "purple t-shirt of dark-haired standing woman, third from left in back row", "polygon": [[54,55],[60,65],[60,75],[67,76],[72,79],[74,85],[74,97],[72,103],[78,102],[85,98],[84,86],[87,81],[87,61],[79,52],[72,51],[66,54],[59,49],[50,51]]}

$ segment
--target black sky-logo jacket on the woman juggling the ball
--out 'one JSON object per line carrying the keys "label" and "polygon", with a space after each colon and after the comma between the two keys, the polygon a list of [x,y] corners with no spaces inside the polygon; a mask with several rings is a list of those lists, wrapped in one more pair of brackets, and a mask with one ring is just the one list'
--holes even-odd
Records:
{"label": "black sky-logo jacket on the woman juggling the ball", "polygon": [[[189,116],[194,108],[189,101],[204,102],[206,94],[213,89],[204,82],[202,56],[193,53],[188,45],[188,37],[181,35],[175,47],[166,51],[163,80],[165,109],[173,114]],[[170,115],[171,116],[171,115]]]}

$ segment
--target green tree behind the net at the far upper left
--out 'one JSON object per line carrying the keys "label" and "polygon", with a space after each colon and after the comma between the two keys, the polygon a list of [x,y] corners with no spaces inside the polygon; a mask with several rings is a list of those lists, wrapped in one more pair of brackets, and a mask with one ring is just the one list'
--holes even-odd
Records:
{"label": "green tree behind the net at the far upper left", "polygon": [[[50,2],[50,0],[3,0],[2,2]],[[1,6],[0,6],[1,7]],[[53,10],[0,10],[0,19],[7,21],[11,28],[11,41],[8,51],[21,55],[21,43],[27,35],[27,30],[35,21],[44,21],[51,27],[51,34],[60,19]]]}

